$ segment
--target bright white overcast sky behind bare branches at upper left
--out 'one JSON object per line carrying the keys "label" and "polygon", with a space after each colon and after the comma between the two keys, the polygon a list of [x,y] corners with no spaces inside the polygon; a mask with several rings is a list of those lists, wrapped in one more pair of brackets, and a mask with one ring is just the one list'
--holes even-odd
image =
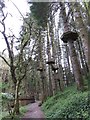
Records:
{"label": "bright white overcast sky behind bare branches at upper left", "polygon": [[[12,0],[12,1],[19,8],[23,16],[25,16],[26,13],[29,11],[27,0]],[[16,36],[18,36],[20,27],[23,23],[22,16],[18,12],[18,10],[15,8],[15,6],[12,4],[11,0],[5,0],[5,3],[6,3],[6,11],[11,14],[11,15],[8,15],[6,19],[7,33],[9,32],[9,28],[10,28],[13,31],[13,33]],[[2,52],[2,50],[5,48],[6,48],[6,44],[2,39],[2,35],[0,33],[0,52]]]}

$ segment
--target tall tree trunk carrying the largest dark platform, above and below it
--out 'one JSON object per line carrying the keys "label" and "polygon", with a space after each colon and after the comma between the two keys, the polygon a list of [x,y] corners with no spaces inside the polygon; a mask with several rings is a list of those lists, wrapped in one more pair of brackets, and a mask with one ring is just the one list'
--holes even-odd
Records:
{"label": "tall tree trunk carrying the largest dark platform, above and below it", "polygon": [[[66,31],[70,30],[70,28],[69,28],[69,25],[67,23],[68,21],[66,20],[66,11],[65,11],[64,3],[60,3],[60,6],[61,6],[64,31],[66,32]],[[75,47],[74,47],[74,42],[72,42],[72,41],[68,40],[68,44],[69,44],[71,62],[72,62],[72,66],[73,66],[73,72],[75,75],[75,81],[77,84],[77,89],[83,90],[84,83],[83,83],[83,78],[82,78],[82,74],[81,74],[80,63],[77,59],[77,55],[76,55],[76,51],[75,51]]]}

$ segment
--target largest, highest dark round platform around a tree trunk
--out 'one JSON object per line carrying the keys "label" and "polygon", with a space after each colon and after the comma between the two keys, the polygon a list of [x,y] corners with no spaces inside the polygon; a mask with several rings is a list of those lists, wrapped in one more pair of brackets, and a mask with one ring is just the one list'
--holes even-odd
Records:
{"label": "largest, highest dark round platform around a tree trunk", "polygon": [[78,38],[78,33],[74,31],[66,31],[61,36],[61,40],[64,43],[67,43],[68,41],[71,41],[71,42],[76,41],[77,38]]}

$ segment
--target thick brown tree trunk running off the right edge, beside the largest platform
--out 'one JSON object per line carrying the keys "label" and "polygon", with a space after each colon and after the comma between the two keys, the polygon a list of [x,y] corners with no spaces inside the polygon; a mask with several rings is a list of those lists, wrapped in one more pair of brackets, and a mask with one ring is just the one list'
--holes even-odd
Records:
{"label": "thick brown tree trunk running off the right edge, beside the largest platform", "polygon": [[83,47],[84,47],[86,61],[87,61],[87,64],[88,64],[88,52],[89,52],[88,51],[88,32],[87,32],[86,26],[83,23],[83,19],[82,19],[81,13],[80,13],[79,2],[75,2],[74,8],[75,8],[76,27],[78,28],[78,30],[80,30],[80,37],[82,39],[82,44],[83,44]]}

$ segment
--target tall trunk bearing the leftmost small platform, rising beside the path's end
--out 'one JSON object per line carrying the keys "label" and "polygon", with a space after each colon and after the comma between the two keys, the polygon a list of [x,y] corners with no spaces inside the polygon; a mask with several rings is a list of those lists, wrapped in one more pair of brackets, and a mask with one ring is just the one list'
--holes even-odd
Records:
{"label": "tall trunk bearing the leftmost small platform, rising beside the path's end", "polygon": [[39,67],[40,70],[40,76],[41,76],[41,88],[42,88],[42,102],[47,97],[47,79],[46,79],[46,71],[45,71],[45,65],[44,65],[44,55],[43,55],[43,38],[42,38],[42,31],[39,30],[39,36],[38,36],[38,57],[39,57]]}

